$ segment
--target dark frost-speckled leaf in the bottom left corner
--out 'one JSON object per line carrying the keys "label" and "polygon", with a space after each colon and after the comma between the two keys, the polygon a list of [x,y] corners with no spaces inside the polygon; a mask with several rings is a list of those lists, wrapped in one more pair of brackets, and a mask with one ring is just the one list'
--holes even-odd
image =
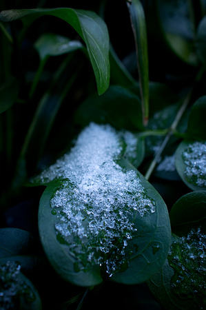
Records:
{"label": "dark frost-speckled leaf in the bottom left corner", "polygon": [[37,289],[20,270],[19,263],[0,260],[1,309],[41,310]]}

